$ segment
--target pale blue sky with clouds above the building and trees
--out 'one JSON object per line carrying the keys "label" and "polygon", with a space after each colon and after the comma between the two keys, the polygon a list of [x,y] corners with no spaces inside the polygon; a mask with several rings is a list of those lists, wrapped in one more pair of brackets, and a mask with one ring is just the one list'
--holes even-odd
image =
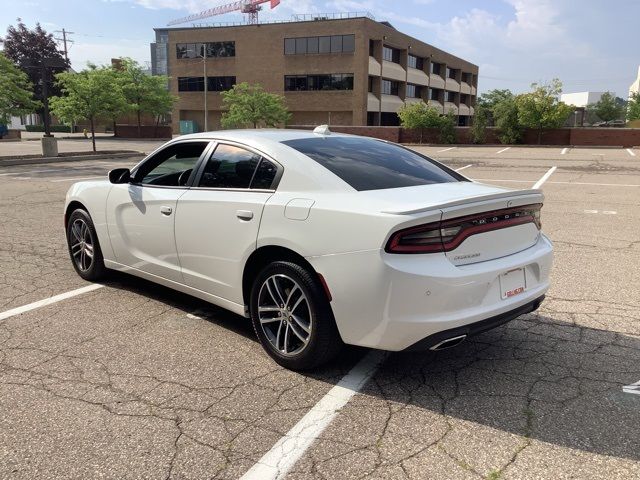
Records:
{"label": "pale blue sky with clouds above the building and trees", "polygon": [[[0,0],[0,32],[17,17],[65,27],[75,69],[130,56],[149,61],[153,28],[227,0]],[[480,66],[480,91],[528,89],[558,77],[565,92],[627,96],[640,64],[640,0],[282,0],[264,19],[367,11]],[[216,21],[240,21],[238,14]]]}

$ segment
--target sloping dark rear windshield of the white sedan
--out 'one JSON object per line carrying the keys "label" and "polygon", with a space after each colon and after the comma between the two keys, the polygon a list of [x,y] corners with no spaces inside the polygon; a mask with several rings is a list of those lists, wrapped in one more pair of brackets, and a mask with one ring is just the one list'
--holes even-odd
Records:
{"label": "sloping dark rear windshield of the white sedan", "polygon": [[282,143],[312,158],[358,191],[464,180],[428,157],[374,139],[318,137]]}

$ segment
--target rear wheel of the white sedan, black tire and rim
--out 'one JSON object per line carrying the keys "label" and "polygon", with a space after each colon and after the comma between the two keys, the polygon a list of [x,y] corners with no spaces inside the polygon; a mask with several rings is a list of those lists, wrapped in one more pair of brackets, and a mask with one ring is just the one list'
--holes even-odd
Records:
{"label": "rear wheel of the white sedan, black tire and rim", "polygon": [[260,272],[250,311],[263,348],[285,368],[317,367],[344,345],[317,275],[296,263],[273,262]]}

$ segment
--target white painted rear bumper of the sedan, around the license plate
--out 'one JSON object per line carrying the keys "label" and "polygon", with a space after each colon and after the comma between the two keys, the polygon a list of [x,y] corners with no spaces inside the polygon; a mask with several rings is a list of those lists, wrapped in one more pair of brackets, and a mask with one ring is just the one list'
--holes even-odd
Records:
{"label": "white painted rear bumper of the sedan, around the license plate", "polygon": [[[440,332],[531,311],[549,288],[553,247],[540,235],[526,250],[464,266],[444,254],[380,250],[307,259],[329,286],[345,343],[400,351]],[[525,270],[526,290],[502,299],[499,277],[514,268]]]}

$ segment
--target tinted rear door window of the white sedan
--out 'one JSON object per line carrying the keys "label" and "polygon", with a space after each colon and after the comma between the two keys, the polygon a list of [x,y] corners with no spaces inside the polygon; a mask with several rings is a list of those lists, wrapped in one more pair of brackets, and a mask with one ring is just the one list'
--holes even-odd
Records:
{"label": "tinted rear door window of the white sedan", "polygon": [[220,144],[207,161],[200,187],[249,188],[260,155],[233,145]]}

